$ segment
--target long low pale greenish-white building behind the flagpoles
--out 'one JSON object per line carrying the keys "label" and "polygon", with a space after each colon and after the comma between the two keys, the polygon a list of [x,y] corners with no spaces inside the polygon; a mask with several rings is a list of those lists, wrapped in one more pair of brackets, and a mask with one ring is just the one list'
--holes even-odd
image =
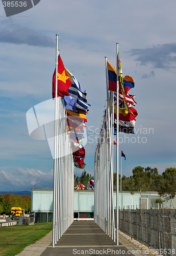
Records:
{"label": "long low pale greenish-white building behind the flagpoles", "polygon": [[[157,192],[119,191],[120,209],[150,209],[157,207]],[[173,199],[176,205],[176,198]],[[164,207],[170,207],[171,202],[164,202]],[[159,205],[161,207],[161,205]],[[114,191],[114,208],[116,209],[116,191]],[[31,189],[31,211],[35,211],[35,223],[53,221],[53,189]],[[74,190],[74,218],[93,218],[94,191]]]}

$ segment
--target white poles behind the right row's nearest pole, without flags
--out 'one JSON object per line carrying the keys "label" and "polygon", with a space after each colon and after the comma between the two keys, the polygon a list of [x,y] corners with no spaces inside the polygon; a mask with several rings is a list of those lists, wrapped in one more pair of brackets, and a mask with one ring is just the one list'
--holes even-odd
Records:
{"label": "white poles behind the right row's nearest pole, without flags", "polygon": [[94,221],[115,241],[112,133],[107,108],[106,104],[95,150]]}

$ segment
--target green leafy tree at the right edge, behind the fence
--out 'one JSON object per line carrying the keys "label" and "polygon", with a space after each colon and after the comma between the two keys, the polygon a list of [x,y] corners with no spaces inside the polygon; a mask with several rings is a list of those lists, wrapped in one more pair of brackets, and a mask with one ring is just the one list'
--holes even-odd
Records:
{"label": "green leafy tree at the right edge, behind the fence", "polygon": [[[173,205],[172,199],[176,193],[176,168],[170,167],[165,169],[165,172],[162,173],[157,191],[160,197],[164,197],[165,201],[170,199]],[[173,208],[175,208],[174,205]]]}

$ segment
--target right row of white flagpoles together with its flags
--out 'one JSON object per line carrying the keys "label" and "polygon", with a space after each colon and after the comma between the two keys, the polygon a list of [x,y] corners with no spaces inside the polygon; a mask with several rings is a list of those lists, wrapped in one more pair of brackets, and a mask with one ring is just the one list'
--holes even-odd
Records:
{"label": "right row of white flagpoles together with its flags", "polygon": [[[95,149],[95,193],[94,193],[94,220],[118,245],[118,191],[119,191],[119,132],[134,134],[134,125],[137,111],[135,95],[130,95],[129,90],[134,88],[134,80],[131,76],[123,78],[121,62],[117,43],[117,71],[105,57],[107,101],[103,115],[100,133]],[[117,103],[118,102],[118,103]],[[114,140],[116,135],[116,142]],[[116,223],[114,221],[114,197],[113,197],[113,164],[114,144],[116,147]],[[124,154],[124,153],[123,153]],[[121,156],[122,150],[121,150]],[[120,180],[121,190],[121,180]]]}

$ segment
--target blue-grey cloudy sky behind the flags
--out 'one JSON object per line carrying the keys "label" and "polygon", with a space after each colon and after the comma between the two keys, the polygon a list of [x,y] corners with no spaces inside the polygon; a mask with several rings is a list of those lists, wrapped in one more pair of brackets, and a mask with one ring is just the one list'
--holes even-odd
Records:
{"label": "blue-grey cloudy sky behind the flags", "polygon": [[[119,133],[122,175],[135,166],[176,167],[174,0],[41,0],[6,17],[0,3],[0,191],[53,186],[53,158],[46,140],[30,138],[26,113],[52,98],[56,34],[64,66],[87,91],[85,170],[94,175],[94,153],[106,101],[105,56],[130,75],[138,112],[135,134]],[[115,148],[115,146],[114,146]],[[81,176],[82,169],[75,168]],[[116,170],[114,169],[114,172]]]}

